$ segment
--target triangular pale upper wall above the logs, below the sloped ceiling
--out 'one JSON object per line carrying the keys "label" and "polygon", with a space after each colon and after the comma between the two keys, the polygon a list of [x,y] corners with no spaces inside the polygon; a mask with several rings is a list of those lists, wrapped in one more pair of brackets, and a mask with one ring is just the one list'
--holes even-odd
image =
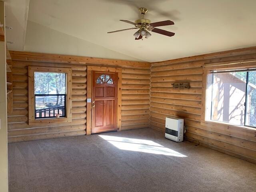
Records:
{"label": "triangular pale upper wall above the logs, below the sloped ceiling", "polygon": [[[92,38],[97,38],[97,36]],[[29,20],[24,51],[140,61]]]}

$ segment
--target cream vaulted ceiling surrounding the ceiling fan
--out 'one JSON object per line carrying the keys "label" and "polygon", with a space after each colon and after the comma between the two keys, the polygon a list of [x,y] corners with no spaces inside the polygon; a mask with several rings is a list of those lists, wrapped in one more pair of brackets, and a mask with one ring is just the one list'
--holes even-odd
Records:
{"label": "cream vaulted ceiling surrounding the ceiling fan", "polygon": [[[173,26],[159,28],[175,32],[175,36],[152,32],[149,39],[142,41],[134,40],[135,31],[132,30],[107,34],[108,31],[133,27],[119,20],[134,21],[140,18],[139,7],[149,9],[145,18],[151,22],[174,21]],[[23,47],[28,51],[48,50],[59,54],[105,58],[112,51],[112,58],[156,62],[255,46],[255,7],[255,0],[30,0],[30,22]],[[29,27],[30,24],[34,26]],[[108,51],[104,51],[104,54],[97,48],[88,51],[88,46],[80,46],[78,51],[63,50],[60,47],[63,45],[60,43],[58,48],[58,42],[54,40],[48,44],[33,44],[34,39],[28,34],[37,34],[39,26],[49,29],[49,33],[54,30]],[[18,30],[15,32],[20,33]],[[40,33],[36,38],[49,38],[46,33]],[[20,44],[13,44],[12,49],[20,50],[19,47]]]}

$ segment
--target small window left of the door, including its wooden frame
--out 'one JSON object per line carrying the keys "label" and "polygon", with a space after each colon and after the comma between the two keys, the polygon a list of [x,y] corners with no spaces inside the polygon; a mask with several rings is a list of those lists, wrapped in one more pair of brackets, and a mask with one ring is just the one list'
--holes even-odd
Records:
{"label": "small window left of the door, including its wooden frame", "polygon": [[72,122],[72,70],[28,67],[29,124]]}

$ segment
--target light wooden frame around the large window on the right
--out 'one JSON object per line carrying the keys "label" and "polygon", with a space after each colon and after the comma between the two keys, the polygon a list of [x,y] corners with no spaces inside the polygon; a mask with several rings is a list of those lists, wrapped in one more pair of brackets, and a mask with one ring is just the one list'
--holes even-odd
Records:
{"label": "light wooden frame around the large window on the right", "polygon": [[[212,128],[215,128],[216,126],[220,126],[220,128],[224,128],[224,129],[243,128],[243,129],[256,130],[256,128],[252,126],[233,125],[226,122],[214,121],[214,120],[211,120],[211,115],[210,115],[212,89],[209,89],[209,86],[211,86],[212,84],[209,83],[208,77],[212,75],[212,71],[213,70],[239,70],[239,69],[241,70],[244,68],[246,69],[256,68],[256,60],[255,59],[238,60],[233,62],[218,62],[218,63],[203,65],[201,125],[209,126]],[[208,109],[209,106],[210,106],[210,110]]]}

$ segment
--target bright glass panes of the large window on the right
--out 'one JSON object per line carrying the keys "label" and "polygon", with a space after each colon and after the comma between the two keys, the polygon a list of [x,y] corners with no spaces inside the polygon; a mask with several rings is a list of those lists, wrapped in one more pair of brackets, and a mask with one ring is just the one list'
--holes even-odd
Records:
{"label": "bright glass panes of the large window on the right", "polygon": [[256,127],[256,70],[212,71],[208,93],[210,120]]}

